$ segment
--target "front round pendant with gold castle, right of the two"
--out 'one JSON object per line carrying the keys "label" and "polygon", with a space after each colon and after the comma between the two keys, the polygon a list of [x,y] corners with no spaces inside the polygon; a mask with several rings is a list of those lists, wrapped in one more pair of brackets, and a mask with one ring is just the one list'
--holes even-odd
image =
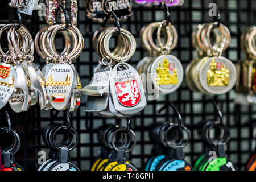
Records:
{"label": "front round pendant with gold castle, right of the two", "polygon": [[229,92],[236,84],[237,71],[232,61],[225,57],[210,57],[199,71],[200,84],[212,94]]}

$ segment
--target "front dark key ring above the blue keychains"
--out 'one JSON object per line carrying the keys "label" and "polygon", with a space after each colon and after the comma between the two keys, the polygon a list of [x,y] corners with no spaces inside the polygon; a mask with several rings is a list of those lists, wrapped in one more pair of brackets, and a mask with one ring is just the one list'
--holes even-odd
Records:
{"label": "front dark key ring above the blue keychains", "polygon": [[[191,134],[190,134],[190,131],[187,129],[187,127],[185,127],[184,125],[181,125],[179,126],[179,124],[175,124],[175,123],[170,123],[169,124],[170,126],[168,127],[168,129],[166,130],[166,133],[164,134],[164,140],[165,142],[167,143],[167,146],[170,147],[170,148],[179,148],[179,147],[182,147],[182,148],[185,148],[185,146],[187,146],[189,140],[191,140]],[[168,138],[167,138],[167,134],[168,132],[173,129],[173,128],[181,128],[182,130],[185,131],[185,133],[187,133],[187,141],[184,142],[183,144],[171,144],[168,142]]]}

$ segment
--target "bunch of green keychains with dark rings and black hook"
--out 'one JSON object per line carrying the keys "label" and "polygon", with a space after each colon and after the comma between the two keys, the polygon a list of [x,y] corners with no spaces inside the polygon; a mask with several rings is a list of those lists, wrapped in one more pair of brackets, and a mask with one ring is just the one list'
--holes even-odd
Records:
{"label": "bunch of green keychains with dark rings and black hook", "polygon": [[[230,140],[230,130],[222,121],[222,113],[218,108],[216,102],[213,100],[208,100],[212,102],[218,113],[217,121],[212,119],[205,120],[201,122],[201,138],[204,140],[204,153],[195,162],[193,170],[195,171],[236,171],[234,164],[231,160],[226,157],[225,145]],[[216,136],[214,139],[211,137],[213,129],[216,130],[217,134],[223,135]],[[212,159],[213,152],[217,155],[216,158]]]}

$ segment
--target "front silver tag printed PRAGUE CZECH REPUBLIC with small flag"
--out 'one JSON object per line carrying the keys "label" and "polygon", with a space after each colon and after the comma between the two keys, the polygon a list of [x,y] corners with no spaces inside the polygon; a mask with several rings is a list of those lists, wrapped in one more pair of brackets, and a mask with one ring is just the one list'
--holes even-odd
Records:
{"label": "front silver tag printed PRAGUE CZECH REPUBLIC with small flag", "polygon": [[65,110],[69,102],[75,73],[71,65],[58,63],[49,69],[46,78],[46,91],[52,107]]}

